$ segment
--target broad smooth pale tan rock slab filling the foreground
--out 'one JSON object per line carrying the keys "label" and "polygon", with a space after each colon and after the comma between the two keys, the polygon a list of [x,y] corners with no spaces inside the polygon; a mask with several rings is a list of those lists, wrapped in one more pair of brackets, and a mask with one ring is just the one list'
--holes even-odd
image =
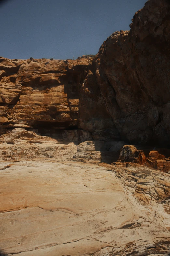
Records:
{"label": "broad smooth pale tan rock slab filling the foreground", "polygon": [[[165,204],[140,204],[133,188],[124,190],[122,178],[115,176],[120,175],[118,167],[110,167],[110,172],[95,164],[51,160],[0,165],[0,241],[7,255],[169,253],[170,215]],[[128,168],[129,176],[131,171],[133,167]],[[167,174],[163,179],[167,183]]]}

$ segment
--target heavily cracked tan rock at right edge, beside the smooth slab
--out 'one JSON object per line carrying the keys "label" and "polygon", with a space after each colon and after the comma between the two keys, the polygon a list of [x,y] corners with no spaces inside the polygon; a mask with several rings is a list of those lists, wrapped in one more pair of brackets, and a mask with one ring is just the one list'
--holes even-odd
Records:
{"label": "heavily cracked tan rock at right edge, beside the smooth slab", "polygon": [[[161,173],[139,164],[115,163],[114,171],[126,192],[131,192],[141,203],[170,203],[170,174]],[[169,208],[168,208],[169,209]],[[169,211],[169,210],[168,210]]]}

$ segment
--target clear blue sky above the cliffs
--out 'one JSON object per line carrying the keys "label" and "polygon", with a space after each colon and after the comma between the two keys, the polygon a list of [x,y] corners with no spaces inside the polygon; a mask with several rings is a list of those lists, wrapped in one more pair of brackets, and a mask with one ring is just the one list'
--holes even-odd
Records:
{"label": "clear blue sky above the cliffs", "polygon": [[96,54],[145,0],[7,0],[0,4],[0,56],[75,59]]}

